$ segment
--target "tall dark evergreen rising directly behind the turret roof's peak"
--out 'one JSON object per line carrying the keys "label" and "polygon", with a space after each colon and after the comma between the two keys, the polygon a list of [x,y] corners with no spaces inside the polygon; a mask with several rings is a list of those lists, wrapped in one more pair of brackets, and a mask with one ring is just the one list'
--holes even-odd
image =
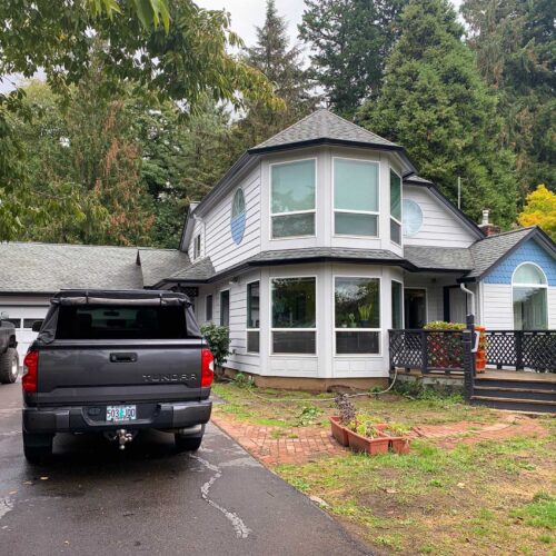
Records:
{"label": "tall dark evergreen rising directly behind the turret roof's peak", "polygon": [[310,46],[311,77],[336,112],[351,117],[380,89],[407,0],[305,0],[300,38]]}

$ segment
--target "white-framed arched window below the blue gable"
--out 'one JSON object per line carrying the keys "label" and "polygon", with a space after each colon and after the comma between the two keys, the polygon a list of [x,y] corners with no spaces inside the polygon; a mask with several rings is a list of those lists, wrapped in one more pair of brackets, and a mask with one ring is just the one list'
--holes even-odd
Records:
{"label": "white-framed arched window below the blue gable", "polygon": [[516,330],[548,328],[547,281],[543,270],[524,262],[512,278],[514,294],[514,326]]}

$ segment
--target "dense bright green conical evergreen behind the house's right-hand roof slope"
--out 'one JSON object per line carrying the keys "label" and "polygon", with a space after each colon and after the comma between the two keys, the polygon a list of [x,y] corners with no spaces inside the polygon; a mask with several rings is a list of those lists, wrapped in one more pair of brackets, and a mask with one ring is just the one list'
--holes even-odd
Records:
{"label": "dense bright green conical evergreen behind the house's right-hand roof slope", "polygon": [[447,0],[411,0],[388,58],[380,97],[360,123],[407,148],[419,171],[478,219],[483,208],[508,226],[516,215],[515,161],[500,146],[496,97],[484,85]]}

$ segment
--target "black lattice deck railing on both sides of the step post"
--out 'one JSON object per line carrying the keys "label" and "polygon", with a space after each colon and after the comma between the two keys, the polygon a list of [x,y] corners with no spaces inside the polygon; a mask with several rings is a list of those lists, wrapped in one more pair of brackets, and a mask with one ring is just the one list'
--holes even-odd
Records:
{"label": "black lattice deck railing on both sides of the step post", "polygon": [[[421,373],[464,370],[463,331],[389,330],[390,368]],[[487,330],[487,364],[556,373],[556,330]]]}

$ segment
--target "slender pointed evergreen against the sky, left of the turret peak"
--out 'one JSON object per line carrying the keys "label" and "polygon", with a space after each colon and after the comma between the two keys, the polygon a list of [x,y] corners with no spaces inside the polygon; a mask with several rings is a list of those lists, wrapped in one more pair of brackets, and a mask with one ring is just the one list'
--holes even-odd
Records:
{"label": "slender pointed evergreen against the sky, left of the turret peak", "polygon": [[285,106],[247,102],[246,117],[234,129],[230,163],[241,151],[281,131],[315,108],[316,99],[310,95],[300,56],[298,46],[289,47],[286,20],[278,14],[275,0],[267,0],[265,24],[257,28],[257,43],[246,50],[245,60],[274,83],[275,95]]}

